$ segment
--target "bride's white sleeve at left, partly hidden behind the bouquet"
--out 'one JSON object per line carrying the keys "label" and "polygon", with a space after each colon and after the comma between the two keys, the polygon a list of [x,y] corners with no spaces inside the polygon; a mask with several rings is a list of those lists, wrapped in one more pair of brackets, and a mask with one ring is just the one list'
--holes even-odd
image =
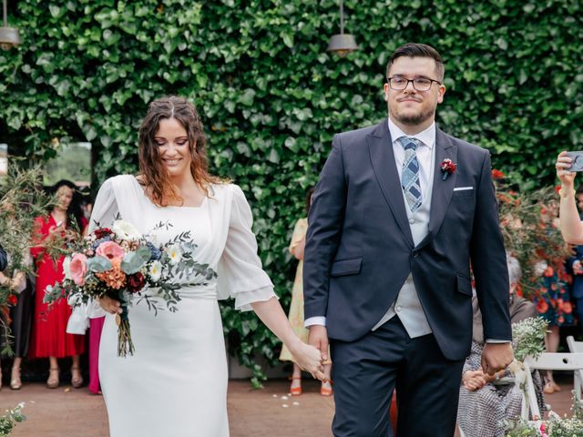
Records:
{"label": "bride's white sleeve at left, partly hidden behind the bouquet", "polygon": [[[93,232],[98,227],[110,227],[116,217],[118,216],[118,202],[116,201],[116,195],[113,189],[113,183],[111,179],[107,179],[99,191],[97,192],[97,198],[95,199],[95,204],[93,205],[93,211],[91,212],[91,219],[89,219],[89,232]],[[73,310],[77,313],[79,319],[78,326],[87,327],[87,320],[80,321],[81,319],[91,318],[97,319],[97,317],[102,317],[106,315],[106,311],[101,308],[101,306],[92,300],[86,305],[81,305]],[[85,316],[85,318],[83,317]],[[76,325],[77,326],[77,325]],[[84,328],[79,328],[78,331]]]}

